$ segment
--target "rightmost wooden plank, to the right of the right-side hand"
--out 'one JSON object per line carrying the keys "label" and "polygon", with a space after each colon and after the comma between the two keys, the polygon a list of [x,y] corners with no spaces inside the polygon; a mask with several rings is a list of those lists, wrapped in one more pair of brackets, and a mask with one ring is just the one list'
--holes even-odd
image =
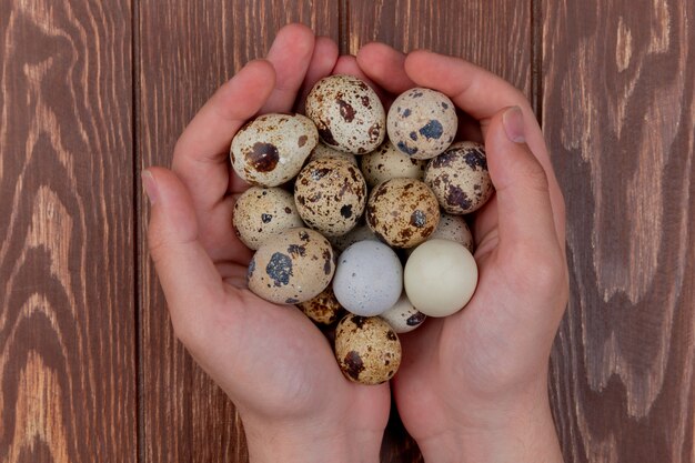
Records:
{"label": "rightmost wooden plank, to the right of the right-side hand", "polygon": [[572,295],[553,354],[565,461],[695,461],[693,0],[543,1],[544,130]]}

